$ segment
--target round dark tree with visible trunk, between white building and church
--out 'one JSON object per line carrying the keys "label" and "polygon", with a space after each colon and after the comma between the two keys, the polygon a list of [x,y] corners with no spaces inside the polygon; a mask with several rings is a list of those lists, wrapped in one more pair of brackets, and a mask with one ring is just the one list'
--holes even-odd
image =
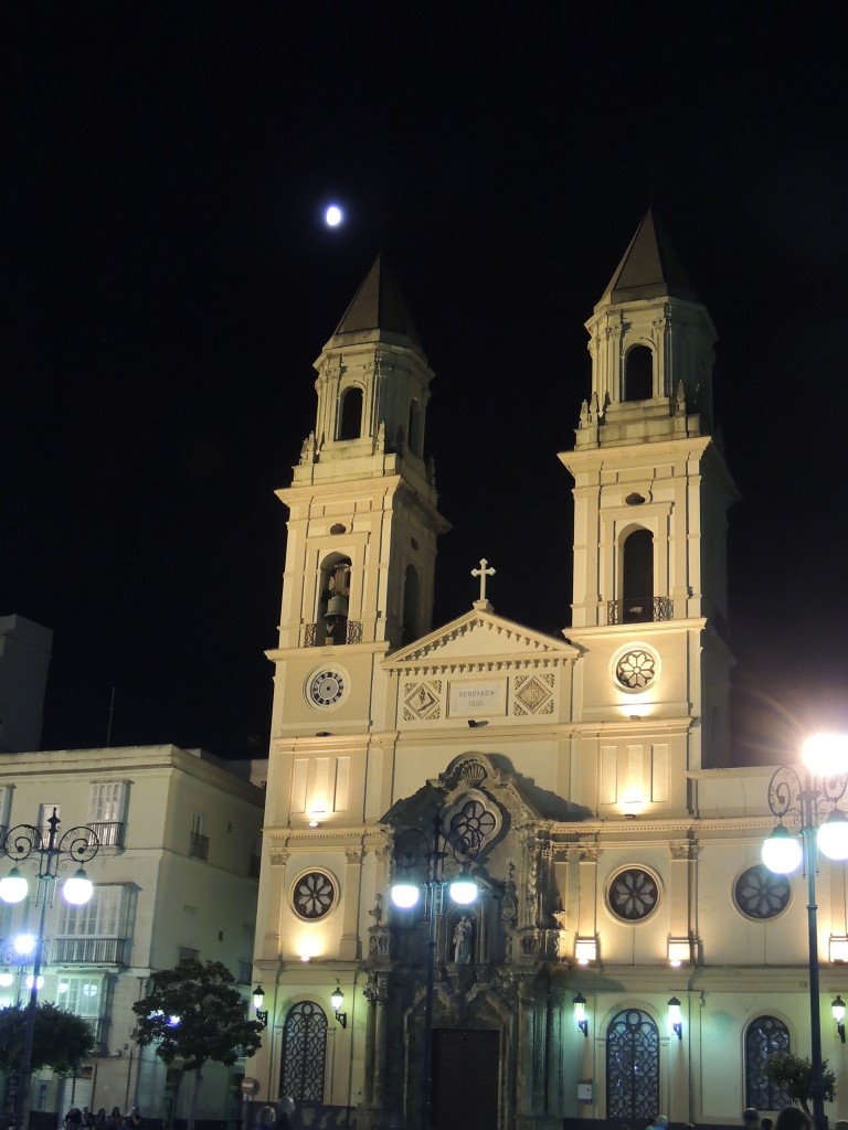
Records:
{"label": "round dark tree with visible trunk, between white building and church", "polygon": [[194,1074],[189,1130],[194,1130],[198,1085],[204,1064],[230,1066],[261,1046],[262,1025],[248,1019],[235,977],[220,962],[180,962],[150,976],[147,996],[132,1006],[138,1016],[136,1043],[156,1045],[163,1063]]}

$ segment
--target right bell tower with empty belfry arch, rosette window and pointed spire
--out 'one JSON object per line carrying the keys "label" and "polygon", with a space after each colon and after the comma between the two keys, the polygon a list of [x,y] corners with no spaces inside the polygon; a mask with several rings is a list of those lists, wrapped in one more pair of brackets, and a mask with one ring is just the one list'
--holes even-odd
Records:
{"label": "right bell tower with empty belfry arch, rosette window and pointed spire", "polygon": [[712,435],[715,329],[651,211],[586,325],[591,394],[560,457],[576,484],[569,636],[603,653],[614,688],[597,670],[586,707],[677,715],[686,767],[722,764],[736,488]]}

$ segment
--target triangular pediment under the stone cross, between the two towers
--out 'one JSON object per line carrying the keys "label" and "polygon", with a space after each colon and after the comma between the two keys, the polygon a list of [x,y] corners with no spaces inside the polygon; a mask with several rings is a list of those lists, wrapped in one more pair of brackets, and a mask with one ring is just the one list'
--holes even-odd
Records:
{"label": "triangular pediment under the stone cross, between the two towers", "polygon": [[393,652],[383,661],[388,669],[430,667],[442,663],[517,663],[528,659],[573,660],[577,647],[565,640],[536,632],[494,612],[473,608],[465,616]]}

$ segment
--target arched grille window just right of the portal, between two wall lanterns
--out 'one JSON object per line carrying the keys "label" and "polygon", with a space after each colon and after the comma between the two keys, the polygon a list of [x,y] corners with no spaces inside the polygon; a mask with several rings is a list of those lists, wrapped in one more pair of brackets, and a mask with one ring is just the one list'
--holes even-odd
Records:
{"label": "arched grille window just right of the portal, between two wall lanterns", "polygon": [[606,1033],[607,1121],[648,1125],[659,1110],[659,1031],[647,1012],[629,1008]]}

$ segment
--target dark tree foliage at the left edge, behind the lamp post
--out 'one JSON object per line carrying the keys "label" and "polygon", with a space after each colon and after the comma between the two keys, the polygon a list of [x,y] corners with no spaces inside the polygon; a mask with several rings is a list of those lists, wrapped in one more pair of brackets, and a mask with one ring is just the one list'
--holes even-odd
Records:
{"label": "dark tree foliage at the left edge, behind the lamp post", "polygon": [[[0,1071],[17,1074],[24,1051],[28,1008],[10,1005],[0,1009]],[[50,1067],[59,1075],[78,1071],[94,1050],[90,1026],[73,1012],[40,1001],[35,1007],[32,1068]]]}

